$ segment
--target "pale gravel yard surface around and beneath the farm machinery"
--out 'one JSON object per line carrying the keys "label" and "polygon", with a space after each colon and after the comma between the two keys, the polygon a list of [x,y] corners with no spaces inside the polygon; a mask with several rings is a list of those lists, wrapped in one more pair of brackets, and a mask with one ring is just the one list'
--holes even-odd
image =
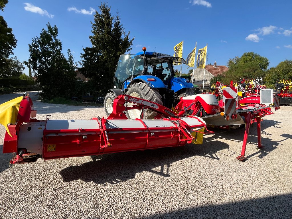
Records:
{"label": "pale gravel yard surface around and beneath the farm machinery", "polygon": [[[0,104],[22,95],[0,95]],[[103,107],[47,104],[37,118],[90,119]],[[264,150],[251,126],[186,145],[8,166],[0,155],[0,218],[292,218],[292,107],[264,117]],[[5,128],[0,126],[0,144]],[[3,145],[0,145],[2,150]]]}

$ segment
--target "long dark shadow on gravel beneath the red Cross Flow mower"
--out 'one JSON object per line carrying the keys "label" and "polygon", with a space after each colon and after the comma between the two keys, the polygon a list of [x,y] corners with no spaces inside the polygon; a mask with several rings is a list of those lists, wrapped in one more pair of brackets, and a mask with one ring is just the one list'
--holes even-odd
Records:
{"label": "long dark shadow on gravel beneath the red Cross Flow mower", "polygon": [[65,182],[81,179],[96,184],[124,182],[135,178],[136,173],[143,171],[169,177],[171,176],[169,167],[173,162],[193,156],[219,159],[215,154],[216,151],[228,148],[229,146],[223,142],[212,141],[210,145],[205,141],[203,145],[188,144],[181,147],[92,156],[93,161],[80,166],[69,166],[60,171],[60,175]]}

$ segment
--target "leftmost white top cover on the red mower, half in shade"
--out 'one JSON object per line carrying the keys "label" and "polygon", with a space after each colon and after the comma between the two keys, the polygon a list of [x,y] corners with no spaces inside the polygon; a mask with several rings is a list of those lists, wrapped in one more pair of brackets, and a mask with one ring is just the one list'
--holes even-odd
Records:
{"label": "leftmost white top cover on the red mower, half in shade", "polygon": [[47,120],[46,130],[61,129],[99,129],[98,121],[95,119],[88,120]]}

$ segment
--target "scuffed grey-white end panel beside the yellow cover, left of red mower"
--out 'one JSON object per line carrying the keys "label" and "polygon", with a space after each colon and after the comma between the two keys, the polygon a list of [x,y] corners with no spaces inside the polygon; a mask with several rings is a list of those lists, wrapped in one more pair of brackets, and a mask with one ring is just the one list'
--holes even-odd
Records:
{"label": "scuffed grey-white end panel beside the yellow cover, left of red mower", "polygon": [[19,130],[18,148],[26,148],[27,152],[43,154],[43,132],[45,122],[28,122]]}

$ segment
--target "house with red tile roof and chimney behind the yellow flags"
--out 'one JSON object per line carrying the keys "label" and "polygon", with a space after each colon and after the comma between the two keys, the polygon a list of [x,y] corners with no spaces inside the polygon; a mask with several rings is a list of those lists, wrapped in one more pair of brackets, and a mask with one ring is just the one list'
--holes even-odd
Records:
{"label": "house with red tile roof and chimney behind the yellow flags", "polygon": [[[202,86],[203,79],[204,79],[204,70],[203,68],[196,68],[190,75],[193,84]],[[210,80],[217,76],[218,74],[223,74],[225,76],[225,72],[227,72],[229,68],[225,65],[217,65],[216,61],[214,65],[206,65],[206,72],[205,72],[205,84],[204,86],[210,88]],[[205,89],[204,89],[205,90]]]}

